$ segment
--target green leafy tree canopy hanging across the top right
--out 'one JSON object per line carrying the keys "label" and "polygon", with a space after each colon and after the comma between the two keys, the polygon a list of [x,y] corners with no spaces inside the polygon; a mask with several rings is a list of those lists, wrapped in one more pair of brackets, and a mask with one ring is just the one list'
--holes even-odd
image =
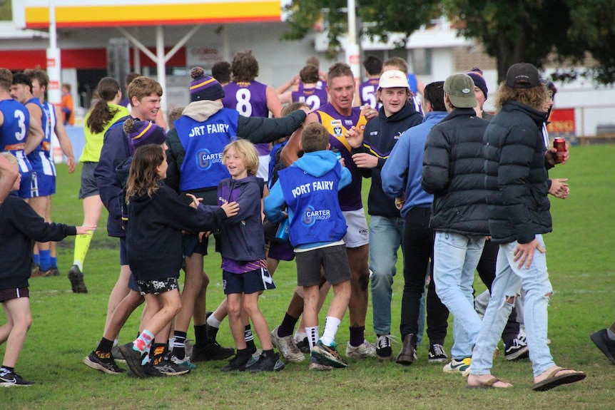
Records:
{"label": "green leafy tree canopy hanging across the top right", "polygon": [[[287,39],[301,39],[322,20],[330,39],[330,55],[339,51],[337,39],[347,31],[345,0],[293,0],[288,6]],[[357,0],[360,34],[387,40],[392,33],[405,41],[422,24],[444,14],[459,34],[476,39],[497,60],[500,79],[513,63],[526,61],[539,68],[552,59],[584,71],[558,70],[558,78],[586,76],[598,83],[615,82],[615,0]],[[564,64],[565,63],[565,64]]]}

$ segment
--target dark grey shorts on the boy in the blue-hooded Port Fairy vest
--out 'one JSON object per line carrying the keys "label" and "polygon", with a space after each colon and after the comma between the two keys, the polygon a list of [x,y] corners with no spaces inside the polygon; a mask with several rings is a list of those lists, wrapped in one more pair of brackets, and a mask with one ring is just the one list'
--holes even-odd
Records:
{"label": "dark grey shorts on the boy in the blue-hooded Port Fairy vest", "polygon": [[297,285],[320,284],[320,267],[325,271],[327,282],[337,285],[352,279],[345,245],[319,247],[306,252],[295,252],[297,261]]}

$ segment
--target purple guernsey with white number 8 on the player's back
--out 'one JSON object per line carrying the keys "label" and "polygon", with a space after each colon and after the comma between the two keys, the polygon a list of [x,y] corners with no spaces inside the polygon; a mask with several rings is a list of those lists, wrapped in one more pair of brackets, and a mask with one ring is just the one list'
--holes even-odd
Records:
{"label": "purple guernsey with white number 8 on the player's back", "polygon": [[[258,81],[231,81],[224,86],[222,105],[244,117],[269,117],[267,85]],[[255,144],[258,155],[269,155],[269,144]]]}

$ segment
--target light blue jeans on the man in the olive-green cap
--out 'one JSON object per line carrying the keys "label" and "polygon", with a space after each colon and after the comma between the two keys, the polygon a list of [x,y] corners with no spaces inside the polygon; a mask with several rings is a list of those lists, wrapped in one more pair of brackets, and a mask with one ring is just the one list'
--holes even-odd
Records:
{"label": "light blue jeans on the man in the olive-green cap", "polygon": [[[453,315],[456,360],[472,357],[480,332],[480,317],[474,310],[474,270],[478,265],[484,236],[436,232],[434,240],[434,280],[436,292]],[[500,334],[502,331],[500,330]]]}

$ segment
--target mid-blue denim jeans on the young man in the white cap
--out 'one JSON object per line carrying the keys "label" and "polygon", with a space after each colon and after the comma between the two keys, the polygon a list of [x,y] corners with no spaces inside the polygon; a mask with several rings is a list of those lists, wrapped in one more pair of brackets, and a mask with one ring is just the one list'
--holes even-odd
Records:
{"label": "mid-blue denim jeans on the young man in the white cap", "polygon": [[[391,332],[391,298],[397,250],[402,245],[405,220],[372,215],[370,220],[370,270],[374,332]],[[403,247],[402,247],[403,250]]]}

